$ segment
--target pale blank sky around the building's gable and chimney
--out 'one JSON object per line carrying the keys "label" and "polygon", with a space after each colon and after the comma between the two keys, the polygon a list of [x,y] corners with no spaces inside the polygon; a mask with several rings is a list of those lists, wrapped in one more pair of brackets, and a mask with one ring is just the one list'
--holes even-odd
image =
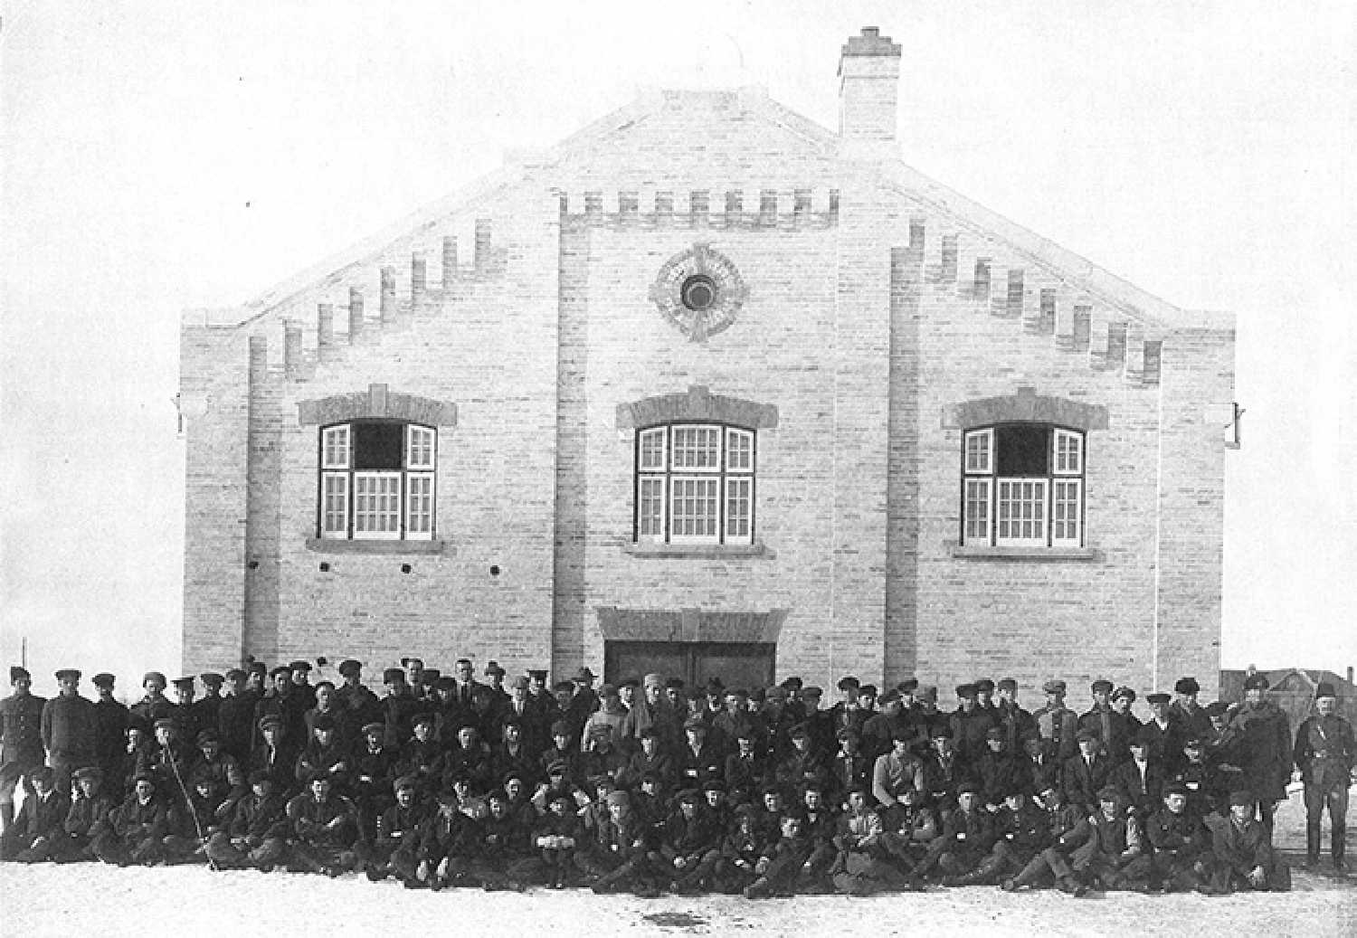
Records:
{"label": "pale blank sky around the building's gable and chimney", "polygon": [[[1225,667],[1357,664],[1357,4],[7,4],[0,661],[176,671],[179,315],[239,304],[641,87],[837,126],[904,46],[900,149],[1186,308],[1238,316]],[[228,662],[223,662],[228,664]]]}

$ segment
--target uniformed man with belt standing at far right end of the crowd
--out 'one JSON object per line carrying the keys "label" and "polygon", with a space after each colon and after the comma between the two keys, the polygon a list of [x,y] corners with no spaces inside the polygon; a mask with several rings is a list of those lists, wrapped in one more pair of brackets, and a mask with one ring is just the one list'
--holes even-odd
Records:
{"label": "uniformed man with belt standing at far right end of the crowd", "polygon": [[1315,688],[1315,713],[1296,730],[1292,755],[1305,781],[1305,867],[1312,870],[1319,866],[1320,823],[1327,806],[1334,873],[1346,873],[1348,785],[1357,762],[1357,745],[1353,744],[1352,724],[1338,715],[1338,696],[1331,683],[1319,681]]}

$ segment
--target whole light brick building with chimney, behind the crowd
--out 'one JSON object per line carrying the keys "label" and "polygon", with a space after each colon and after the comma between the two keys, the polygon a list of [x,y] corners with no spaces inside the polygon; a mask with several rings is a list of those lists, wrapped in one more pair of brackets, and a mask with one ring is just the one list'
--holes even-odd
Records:
{"label": "whole light brick building with chimney, behind the crowd", "polygon": [[186,316],[185,665],[1210,696],[1232,320],[906,167],[898,71],[643,96]]}

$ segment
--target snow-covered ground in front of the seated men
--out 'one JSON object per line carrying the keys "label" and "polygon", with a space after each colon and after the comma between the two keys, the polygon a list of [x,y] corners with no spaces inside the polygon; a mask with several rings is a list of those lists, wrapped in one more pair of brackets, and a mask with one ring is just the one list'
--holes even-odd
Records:
{"label": "snow-covered ground in front of the seated men", "polygon": [[[1352,839],[1352,838],[1350,838]],[[1293,862],[1304,854],[1300,794],[1278,813],[1278,843]],[[1327,850],[1326,850],[1327,854]],[[1327,861],[1326,861],[1327,863]],[[847,899],[801,896],[749,901],[715,896],[594,896],[588,890],[525,895],[457,889],[411,892],[387,881],[345,876],[205,867],[0,866],[0,934],[137,935],[166,930],[216,934],[281,928],[289,937],[421,933],[559,935],[1357,935],[1357,877],[1295,871],[1286,895],[1141,896],[1057,892],[1007,895],[993,888],[938,889],[921,895]]]}

